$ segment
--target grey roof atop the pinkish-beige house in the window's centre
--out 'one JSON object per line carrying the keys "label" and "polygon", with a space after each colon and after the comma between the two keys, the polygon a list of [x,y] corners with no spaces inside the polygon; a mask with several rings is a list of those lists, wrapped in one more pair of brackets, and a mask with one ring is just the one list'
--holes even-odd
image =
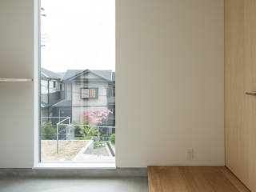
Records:
{"label": "grey roof atop the pinkish-beige house in the window's centre", "polygon": [[112,74],[114,72],[112,72],[111,70],[67,70],[62,80],[68,81],[86,73],[96,74],[97,76],[106,79],[106,81],[113,81]]}

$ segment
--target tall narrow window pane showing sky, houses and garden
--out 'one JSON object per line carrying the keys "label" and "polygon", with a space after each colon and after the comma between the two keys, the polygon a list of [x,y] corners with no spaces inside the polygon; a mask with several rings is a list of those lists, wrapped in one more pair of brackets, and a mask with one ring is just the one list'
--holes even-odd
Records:
{"label": "tall narrow window pane showing sky, houses and garden", "polygon": [[114,162],[114,6],[41,0],[41,162]]}

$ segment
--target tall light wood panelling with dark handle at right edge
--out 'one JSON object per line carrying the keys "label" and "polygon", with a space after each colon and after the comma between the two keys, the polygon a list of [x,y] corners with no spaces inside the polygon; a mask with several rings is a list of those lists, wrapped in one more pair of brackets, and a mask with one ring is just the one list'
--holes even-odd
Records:
{"label": "tall light wood panelling with dark handle at right edge", "polygon": [[256,1],[225,1],[226,166],[256,191]]}

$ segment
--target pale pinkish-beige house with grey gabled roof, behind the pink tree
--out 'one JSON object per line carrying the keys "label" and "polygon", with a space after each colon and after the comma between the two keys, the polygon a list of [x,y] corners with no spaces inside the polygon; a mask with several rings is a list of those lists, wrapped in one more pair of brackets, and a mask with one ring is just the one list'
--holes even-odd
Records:
{"label": "pale pinkish-beige house with grey gabled roof, behind the pink tree", "polygon": [[[50,106],[54,116],[70,117],[81,123],[82,114],[88,110],[109,109],[109,126],[115,125],[115,74],[111,70],[67,70],[54,81],[63,84],[61,101]],[[62,92],[61,90],[59,92]],[[57,90],[56,90],[57,91]]]}

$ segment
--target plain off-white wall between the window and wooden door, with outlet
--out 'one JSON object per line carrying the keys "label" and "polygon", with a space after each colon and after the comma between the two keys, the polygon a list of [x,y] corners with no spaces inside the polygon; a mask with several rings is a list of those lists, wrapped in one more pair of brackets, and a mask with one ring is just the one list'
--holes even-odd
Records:
{"label": "plain off-white wall between the window and wooden door, with outlet", "polygon": [[117,166],[223,165],[224,1],[118,0],[116,26]]}

